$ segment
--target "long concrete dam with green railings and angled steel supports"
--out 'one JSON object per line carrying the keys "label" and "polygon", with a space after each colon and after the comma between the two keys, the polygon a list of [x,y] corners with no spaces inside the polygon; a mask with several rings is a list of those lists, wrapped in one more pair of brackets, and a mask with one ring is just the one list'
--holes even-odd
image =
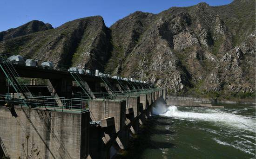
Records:
{"label": "long concrete dam with green railings and angled steel supports", "polygon": [[0,57],[0,158],[115,158],[166,100],[146,81],[24,61]]}

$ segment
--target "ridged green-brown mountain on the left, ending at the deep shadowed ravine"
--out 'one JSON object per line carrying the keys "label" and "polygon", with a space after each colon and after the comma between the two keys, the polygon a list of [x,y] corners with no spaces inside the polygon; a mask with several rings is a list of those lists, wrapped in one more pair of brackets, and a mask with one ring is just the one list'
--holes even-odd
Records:
{"label": "ridged green-brown mountain on the left, ending at the deep shadowed ravine", "polygon": [[[34,32],[0,43],[0,51],[55,64],[95,67],[107,61],[109,31],[100,16],[76,19],[55,29]],[[57,65],[56,65],[57,66]]]}

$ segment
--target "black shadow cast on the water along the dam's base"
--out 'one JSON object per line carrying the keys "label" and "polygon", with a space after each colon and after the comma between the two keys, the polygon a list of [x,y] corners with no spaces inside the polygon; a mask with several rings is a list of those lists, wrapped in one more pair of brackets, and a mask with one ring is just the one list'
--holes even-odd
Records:
{"label": "black shadow cast on the water along the dam's base", "polygon": [[140,134],[132,137],[129,148],[123,153],[117,155],[115,159],[142,159],[143,151],[146,149],[160,150],[165,148],[174,148],[175,144],[168,140],[152,140],[154,135],[175,134],[173,131],[159,129],[159,126],[170,125],[168,122],[166,124],[158,121],[159,119],[164,120],[168,118],[151,116],[151,118],[146,120],[146,123],[140,127]]}

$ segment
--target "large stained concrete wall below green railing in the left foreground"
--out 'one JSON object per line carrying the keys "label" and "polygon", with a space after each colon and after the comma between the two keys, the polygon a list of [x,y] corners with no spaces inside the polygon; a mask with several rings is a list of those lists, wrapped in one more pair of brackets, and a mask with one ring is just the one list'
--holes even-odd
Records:
{"label": "large stained concrete wall below green railing in the left foreground", "polygon": [[[23,111],[24,110],[24,111]],[[11,159],[25,158],[21,144],[28,150],[38,147],[41,159],[81,159],[88,155],[89,112],[65,113],[15,108],[13,117],[0,107],[0,137]]]}

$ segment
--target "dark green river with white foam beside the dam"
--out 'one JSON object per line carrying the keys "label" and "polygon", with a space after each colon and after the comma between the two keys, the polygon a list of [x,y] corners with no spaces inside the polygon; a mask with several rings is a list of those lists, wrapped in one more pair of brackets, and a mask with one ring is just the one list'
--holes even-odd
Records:
{"label": "dark green river with white foam beside the dam", "polygon": [[158,106],[120,158],[255,159],[255,106],[224,106]]}

